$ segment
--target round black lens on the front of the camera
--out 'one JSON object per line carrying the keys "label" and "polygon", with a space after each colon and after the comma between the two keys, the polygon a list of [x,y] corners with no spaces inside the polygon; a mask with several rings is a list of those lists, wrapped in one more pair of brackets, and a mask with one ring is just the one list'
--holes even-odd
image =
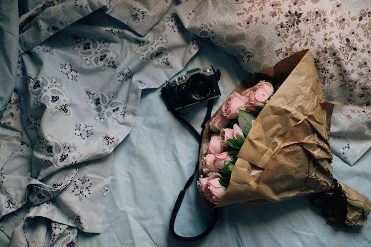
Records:
{"label": "round black lens on the front of the camera", "polygon": [[209,77],[203,74],[193,75],[188,80],[189,96],[196,100],[202,100],[209,96],[211,83]]}

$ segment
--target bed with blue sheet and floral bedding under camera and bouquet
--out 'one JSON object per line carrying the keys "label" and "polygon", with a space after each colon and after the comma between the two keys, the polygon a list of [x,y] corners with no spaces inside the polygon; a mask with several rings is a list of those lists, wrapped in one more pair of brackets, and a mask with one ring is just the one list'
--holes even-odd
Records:
{"label": "bed with blue sheet and floral bedding under camera and bouquet", "polygon": [[[304,48],[326,99],[343,105],[332,117],[333,175],[370,198],[371,3],[322,1],[2,1],[1,246],[189,246],[169,223],[198,143],[159,87],[213,65],[215,112],[250,73]],[[185,111],[201,130],[206,103]],[[209,218],[194,181],[175,230],[197,235]],[[369,246],[370,230],[330,226],[299,197],[222,207],[191,245]]]}

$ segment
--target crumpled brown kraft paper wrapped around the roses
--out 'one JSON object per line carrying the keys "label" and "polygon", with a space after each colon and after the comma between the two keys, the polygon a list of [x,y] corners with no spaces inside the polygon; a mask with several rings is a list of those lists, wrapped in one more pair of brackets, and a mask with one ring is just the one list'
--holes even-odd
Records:
{"label": "crumpled brown kraft paper wrapped around the roses", "polygon": [[[334,102],[325,101],[310,51],[297,52],[260,74],[270,76],[280,87],[242,145],[226,195],[217,205],[209,206],[274,203],[331,189],[329,133]],[[256,83],[251,76],[234,91],[241,92]],[[200,150],[200,174],[210,134],[207,122]],[[362,226],[370,213],[370,200],[339,184],[347,196],[345,224]]]}

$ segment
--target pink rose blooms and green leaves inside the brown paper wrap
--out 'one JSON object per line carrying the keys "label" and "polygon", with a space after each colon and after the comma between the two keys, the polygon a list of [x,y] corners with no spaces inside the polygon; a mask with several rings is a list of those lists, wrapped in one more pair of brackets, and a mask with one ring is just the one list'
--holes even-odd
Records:
{"label": "pink rose blooms and green leaves inside the brown paper wrap", "polygon": [[197,188],[211,203],[217,204],[226,194],[245,136],[273,93],[272,83],[264,80],[241,93],[233,91],[221,111],[210,120],[210,130],[214,133],[207,154],[202,158],[203,174],[197,181]]}

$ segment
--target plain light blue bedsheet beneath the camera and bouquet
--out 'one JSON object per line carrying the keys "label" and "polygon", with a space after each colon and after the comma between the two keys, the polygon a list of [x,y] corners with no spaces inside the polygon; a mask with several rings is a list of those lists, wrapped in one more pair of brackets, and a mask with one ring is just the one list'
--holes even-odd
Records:
{"label": "plain light blue bedsheet beneath the camera and bouquet", "polygon": [[[211,44],[205,45],[185,70],[213,64],[221,69],[222,96],[213,112],[247,75],[238,63]],[[184,110],[200,128],[206,104]],[[363,228],[339,229],[325,223],[321,210],[309,197],[270,205],[231,205],[220,208],[215,229],[204,239],[184,243],[169,232],[170,215],[179,191],[194,170],[198,144],[190,132],[167,111],[160,89],[143,90],[133,130],[114,151],[110,191],[102,233],[79,235],[80,246],[371,246],[371,222]],[[333,174],[360,193],[371,197],[371,151],[354,166],[337,156]],[[207,224],[195,183],[188,189],[175,225],[180,235],[194,236]]]}

